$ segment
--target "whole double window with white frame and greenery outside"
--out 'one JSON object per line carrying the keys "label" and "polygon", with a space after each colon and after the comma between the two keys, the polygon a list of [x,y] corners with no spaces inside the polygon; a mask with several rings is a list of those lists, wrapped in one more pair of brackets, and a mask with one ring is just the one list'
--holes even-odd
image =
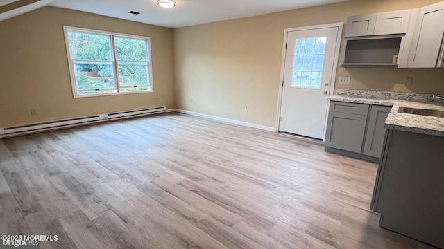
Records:
{"label": "whole double window with white frame and greenery outside", "polygon": [[153,91],[148,37],[64,30],[74,98]]}

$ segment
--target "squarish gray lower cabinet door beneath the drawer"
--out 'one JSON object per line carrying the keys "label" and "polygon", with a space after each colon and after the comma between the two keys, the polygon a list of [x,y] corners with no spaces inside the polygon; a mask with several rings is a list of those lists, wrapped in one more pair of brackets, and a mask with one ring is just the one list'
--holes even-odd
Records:
{"label": "squarish gray lower cabinet door beneath the drawer", "polygon": [[361,153],[367,116],[330,111],[325,146]]}

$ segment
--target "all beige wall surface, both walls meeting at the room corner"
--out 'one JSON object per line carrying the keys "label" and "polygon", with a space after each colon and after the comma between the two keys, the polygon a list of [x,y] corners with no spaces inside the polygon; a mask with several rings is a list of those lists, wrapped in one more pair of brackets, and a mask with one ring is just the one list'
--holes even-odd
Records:
{"label": "all beige wall surface, both walls meeting at the room corner", "polygon": [[[0,22],[0,127],[160,105],[274,127],[284,28],[438,1],[357,0],[174,31],[44,7]],[[63,25],[151,37],[154,93],[73,98]],[[336,77],[348,75],[350,89],[444,93],[444,70],[339,68]]]}

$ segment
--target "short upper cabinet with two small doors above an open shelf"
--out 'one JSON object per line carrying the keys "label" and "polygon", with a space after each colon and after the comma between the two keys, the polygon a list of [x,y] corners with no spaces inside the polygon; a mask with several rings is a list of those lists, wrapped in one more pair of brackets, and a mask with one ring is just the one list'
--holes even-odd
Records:
{"label": "short upper cabinet with two small doors above an open shelf", "polygon": [[407,68],[418,9],[347,18],[342,67]]}

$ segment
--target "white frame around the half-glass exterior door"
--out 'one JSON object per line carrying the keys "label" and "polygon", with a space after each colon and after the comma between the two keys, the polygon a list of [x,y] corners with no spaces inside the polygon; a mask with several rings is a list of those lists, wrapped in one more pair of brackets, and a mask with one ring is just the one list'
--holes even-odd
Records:
{"label": "white frame around the half-glass exterior door", "polygon": [[[285,57],[287,55],[287,38],[289,32],[292,31],[302,31],[302,30],[314,30],[321,28],[338,28],[338,35],[336,37],[336,49],[334,51],[334,60],[333,60],[333,70],[332,70],[332,78],[330,80],[330,89],[328,91],[328,97],[333,95],[334,91],[334,82],[336,81],[336,72],[338,70],[338,62],[339,62],[339,50],[341,50],[341,40],[342,40],[342,29],[343,23],[334,23],[334,24],[321,24],[314,26],[304,26],[298,28],[285,28],[284,29],[284,42],[282,44],[282,61],[280,67],[280,80],[279,80],[279,96],[278,96],[278,112],[276,114],[276,132],[279,132],[279,117],[280,117],[280,109],[282,107],[282,82],[284,82],[284,71],[285,71]],[[328,115],[328,104],[327,104],[327,114]],[[327,119],[325,119],[327,120]],[[325,140],[325,129],[327,128],[327,122],[324,124],[324,136],[323,141]]]}

